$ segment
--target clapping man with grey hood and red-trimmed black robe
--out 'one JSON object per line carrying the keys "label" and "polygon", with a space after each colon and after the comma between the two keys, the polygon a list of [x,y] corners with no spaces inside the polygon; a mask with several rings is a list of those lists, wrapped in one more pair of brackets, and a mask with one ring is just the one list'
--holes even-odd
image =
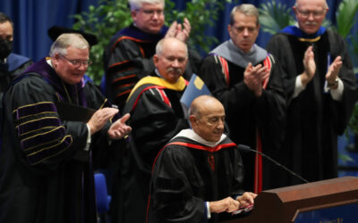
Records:
{"label": "clapping man with grey hood and red-trimmed black robe", "polygon": [[[259,29],[259,12],[254,5],[235,6],[227,25],[230,40],[210,52],[199,75],[224,104],[229,136],[234,143],[273,155],[282,140],[286,95],[279,62],[255,45]],[[259,193],[262,188],[272,187],[271,173],[275,167],[260,156],[255,159],[255,154],[242,156],[243,188]]]}

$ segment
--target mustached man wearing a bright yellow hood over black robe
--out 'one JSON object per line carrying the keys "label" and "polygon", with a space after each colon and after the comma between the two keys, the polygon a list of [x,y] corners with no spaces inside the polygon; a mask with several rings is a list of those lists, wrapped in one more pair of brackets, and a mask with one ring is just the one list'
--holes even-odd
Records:
{"label": "mustached man wearing a bright yellow hood over black robe", "polygon": [[141,78],[125,103],[133,131],[120,167],[121,184],[115,188],[119,207],[112,207],[114,222],[145,222],[153,161],[170,138],[189,127],[180,103],[187,61],[185,43],[175,37],[160,40],[153,56],[156,70]]}

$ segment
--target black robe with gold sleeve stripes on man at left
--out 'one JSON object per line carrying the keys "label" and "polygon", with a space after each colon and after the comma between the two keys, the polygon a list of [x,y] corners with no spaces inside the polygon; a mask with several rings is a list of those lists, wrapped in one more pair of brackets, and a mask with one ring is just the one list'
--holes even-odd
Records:
{"label": "black robe with gold sleeve stripes on man at left", "polygon": [[91,136],[86,152],[86,123],[62,120],[59,101],[96,110],[106,102],[91,83],[65,84],[45,60],[16,78],[4,94],[0,222],[97,222],[92,169],[113,156],[109,123]]}

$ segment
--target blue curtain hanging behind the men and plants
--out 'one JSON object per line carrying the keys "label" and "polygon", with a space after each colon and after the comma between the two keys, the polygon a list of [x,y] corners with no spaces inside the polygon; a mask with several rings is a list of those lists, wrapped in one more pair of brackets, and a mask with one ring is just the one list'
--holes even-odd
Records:
{"label": "blue curtain hanging behind the men and plants", "polygon": [[[176,8],[183,9],[188,0],[173,0]],[[223,0],[221,0],[223,1]],[[294,0],[279,0],[293,5]],[[236,1],[240,4],[249,3],[259,6],[270,0]],[[335,23],[337,5],[341,0],[328,0],[328,19]],[[98,4],[98,0],[1,0],[0,12],[8,14],[14,22],[14,52],[23,54],[38,61],[48,54],[52,43],[47,36],[47,29],[53,25],[72,27],[71,15],[87,11],[90,4]],[[228,39],[226,25],[229,13],[234,4],[226,4],[224,12],[219,16],[215,27],[210,27],[206,35],[215,36],[220,42]],[[357,25],[354,25],[354,31]],[[270,35],[260,31],[257,44],[265,46]]]}

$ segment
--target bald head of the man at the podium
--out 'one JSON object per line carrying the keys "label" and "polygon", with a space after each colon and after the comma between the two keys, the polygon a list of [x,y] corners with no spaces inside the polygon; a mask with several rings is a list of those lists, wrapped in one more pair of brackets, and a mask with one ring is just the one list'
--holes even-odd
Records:
{"label": "bald head of the man at the podium", "polygon": [[201,95],[192,101],[189,120],[196,134],[209,142],[217,142],[224,132],[224,106],[213,96]]}

